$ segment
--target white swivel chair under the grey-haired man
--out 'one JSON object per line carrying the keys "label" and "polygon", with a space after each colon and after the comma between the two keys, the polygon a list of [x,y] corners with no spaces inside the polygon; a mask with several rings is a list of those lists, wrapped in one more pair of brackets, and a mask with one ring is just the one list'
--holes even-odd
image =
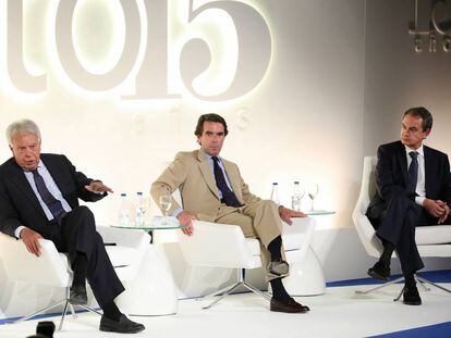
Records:
{"label": "white swivel chair under the grey-haired man", "polygon": [[[150,240],[148,234],[111,227],[97,227],[97,230],[106,243],[114,243],[114,246],[107,246],[106,249],[119,278],[121,280],[133,279],[148,247]],[[69,302],[72,271],[69,266],[68,256],[58,252],[53,242],[47,239],[41,239],[39,242],[41,255],[37,258],[26,250],[22,240],[16,240],[0,233],[0,260],[3,263],[8,279],[33,285],[61,287],[65,289],[65,297],[13,323],[26,321],[64,304],[59,326],[59,330],[61,330],[68,308],[75,317],[73,305]],[[101,315],[100,312],[89,306],[80,306]]]}

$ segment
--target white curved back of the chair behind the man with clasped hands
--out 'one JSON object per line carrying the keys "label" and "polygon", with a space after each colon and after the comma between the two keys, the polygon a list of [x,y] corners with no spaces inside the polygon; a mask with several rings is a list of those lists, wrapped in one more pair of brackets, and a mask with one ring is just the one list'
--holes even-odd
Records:
{"label": "white curved back of the chair behind the man with clasped hands", "polygon": [[378,258],[382,251],[382,245],[376,237],[376,231],[366,216],[369,202],[376,193],[376,157],[364,158],[361,193],[352,213],[352,220],[366,252]]}

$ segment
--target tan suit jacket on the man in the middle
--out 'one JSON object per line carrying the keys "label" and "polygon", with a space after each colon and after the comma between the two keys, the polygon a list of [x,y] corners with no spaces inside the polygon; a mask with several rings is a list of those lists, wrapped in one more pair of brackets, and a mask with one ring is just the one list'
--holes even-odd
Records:
{"label": "tan suit jacket on the man in the middle", "polygon": [[[221,159],[232,190],[241,203],[248,204],[260,199],[251,193],[248,186],[241,177],[237,165]],[[153,184],[150,192],[158,204],[159,197],[171,195],[179,189],[183,206],[172,200],[169,213],[179,208],[196,215],[203,221],[215,221],[219,216],[234,212],[240,208],[221,208],[215,176],[206,154],[202,150],[179,152],[174,161]]]}

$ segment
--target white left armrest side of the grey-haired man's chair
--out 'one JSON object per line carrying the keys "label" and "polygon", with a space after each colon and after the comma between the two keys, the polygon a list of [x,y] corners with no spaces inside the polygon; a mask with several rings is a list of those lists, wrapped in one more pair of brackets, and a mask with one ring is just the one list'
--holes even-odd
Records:
{"label": "white left armrest side of the grey-haired man's chair", "polygon": [[11,236],[0,234],[0,259],[8,278],[13,281],[68,287],[72,272],[66,256],[59,253],[50,240],[40,239],[39,243],[41,255],[35,256],[22,242]]}

